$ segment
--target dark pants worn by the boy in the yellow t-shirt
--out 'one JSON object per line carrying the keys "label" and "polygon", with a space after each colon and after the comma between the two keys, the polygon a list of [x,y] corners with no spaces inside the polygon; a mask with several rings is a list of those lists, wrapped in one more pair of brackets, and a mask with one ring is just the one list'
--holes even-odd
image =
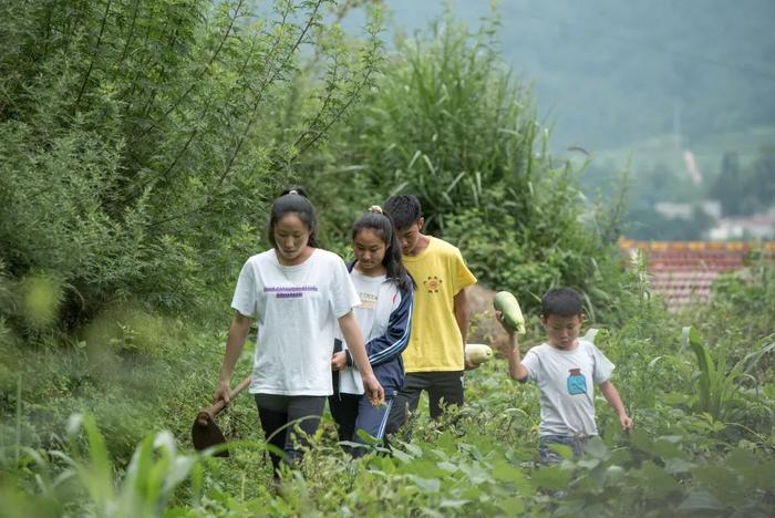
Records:
{"label": "dark pants worn by the boy in the yellow t-shirt", "polygon": [[[445,405],[463,405],[463,371],[407,373],[388,418],[388,435],[403,426],[407,412],[416,412],[423,391],[427,391],[431,417],[436,419],[443,413],[442,401]],[[407,431],[405,439],[410,436]]]}

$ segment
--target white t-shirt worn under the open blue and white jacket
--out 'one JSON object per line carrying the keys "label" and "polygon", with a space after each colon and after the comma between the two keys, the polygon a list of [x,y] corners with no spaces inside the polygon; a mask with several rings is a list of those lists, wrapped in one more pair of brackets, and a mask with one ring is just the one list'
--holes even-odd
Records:
{"label": "white t-shirt worn under the open blue and white jacket", "polygon": [[[388,280],[388,276],[369,277],[353,268],[350,278],[361,299],[361,304],[352,312],[361,328],[364,342],[369,343],[388,332],[390,315],[401,304],[401,292],[395,282]],[[342,341],[343,349],[349,349],[339,327],[337,327],[337,338]],[[339,391],[344,394],[365,392],[361,374],[354,366],[339,373]]]}

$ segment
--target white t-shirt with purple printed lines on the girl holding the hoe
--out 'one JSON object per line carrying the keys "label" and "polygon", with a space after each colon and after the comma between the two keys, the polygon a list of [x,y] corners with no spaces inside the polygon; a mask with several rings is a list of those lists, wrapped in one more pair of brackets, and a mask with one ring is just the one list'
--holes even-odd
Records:
{"label": "white t-shirt with purple printed lines on the girl holding the hoe", "polygon": [[231,307],[258,321],[249,392],[332,394],[338,319],[360,303],[344,261],[330,251],[317,248],[297,266],[280,265],[273,249],[248,259]]}

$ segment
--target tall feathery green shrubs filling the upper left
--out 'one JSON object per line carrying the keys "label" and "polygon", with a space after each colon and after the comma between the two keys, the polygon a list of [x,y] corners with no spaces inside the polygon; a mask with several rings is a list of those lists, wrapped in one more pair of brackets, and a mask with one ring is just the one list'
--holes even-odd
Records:
{"label": "tall feathery green shrubs filling the upper left", "polygon": [[297,157],[370,83],[378,25],[348,45],[322,23],[329,4],[3,2],[9,278],[52,278],[71,327],[126,300],[206,305]]}

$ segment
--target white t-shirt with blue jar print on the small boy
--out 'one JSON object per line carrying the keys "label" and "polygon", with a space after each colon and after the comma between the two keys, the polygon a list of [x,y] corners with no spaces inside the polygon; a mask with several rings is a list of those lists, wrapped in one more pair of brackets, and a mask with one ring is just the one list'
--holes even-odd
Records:
{"label": "white t-shirt with blue jar print on the small boy", "polygon": [[539,435],[597,435],[595,385],[607,381],[614,365],[593,343],[579,340],[571,351],[542,343],[530,349],[523,365],[540,392]]}

